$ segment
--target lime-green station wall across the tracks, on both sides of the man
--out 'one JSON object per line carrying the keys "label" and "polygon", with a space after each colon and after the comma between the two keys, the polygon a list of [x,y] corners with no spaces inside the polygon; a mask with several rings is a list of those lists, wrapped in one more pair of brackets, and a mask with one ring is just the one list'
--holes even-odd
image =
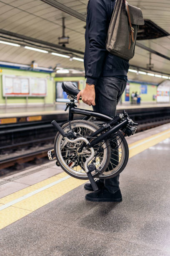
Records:
{"label": "lime-green station wall across the tracks, on both sides of the man", "polygon": [[[42,73],[42,72],[32,72],[26,70],[18,70],[18,69],[8,69],[2,68],[0,69],[0,105],[5,105],[5,97],[2,94],[2,75],[15,75],[15,76],[25,76],[25,77],[40,77],[47,79],[47,96],[45,97],[28,97],[28,104],[53,104],[55,102],[55,83],[62,81],[75,81],[79,82],[79,89],[82,90],[85,87],[85,78],[84,77],[54,77],[55,73]],[[138,92],[141,96],[142,102],[154,102],[153,95],[157,95],[157,85],[149,84],[141,82],[130,81],[130,90],[129,95],[132,92]],[[141,94],[141,86],[145,84],[147,93]],[[129,97],[130,100],[130,97]],[[122,102],[125,102],[125,92],[122,95]],[[155,100],[156,102],[156,100]],[[26,97],[8,97],[7,105],[17,105],[17,104],[26,104]]]}

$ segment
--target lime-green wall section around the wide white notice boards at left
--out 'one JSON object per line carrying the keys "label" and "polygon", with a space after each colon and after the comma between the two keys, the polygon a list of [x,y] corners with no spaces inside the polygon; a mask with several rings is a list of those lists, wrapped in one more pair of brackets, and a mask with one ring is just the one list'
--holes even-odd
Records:
{"label": "lime-green wall section around the wide white notice boards at left", "polygon": [[[49,73],[42,72],[32,72],[27,70],[18,70],[18,69],[8,69],[2,68],[0,69],[0,105],[5,105],[5,97],[3,97],[2,92],[2,75],[15,75],[15,76],[23,76],[23,77],[40,77],[47,79],[47,96],[44,97],[28,97],[28,104],[37,104],[37,103],[53,103],[54,101],[54,82],[53,77]],[[7,104],[26,104],[26,97],[7,97]]]}

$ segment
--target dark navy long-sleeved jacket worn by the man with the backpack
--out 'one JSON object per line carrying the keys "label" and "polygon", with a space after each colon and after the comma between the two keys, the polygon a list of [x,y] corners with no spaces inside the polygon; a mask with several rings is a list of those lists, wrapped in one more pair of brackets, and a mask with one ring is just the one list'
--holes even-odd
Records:
{"label": "dark navy long-sleeved jacket worn by the man with the backpack", "polygon": [[95,84],[99,77],[127,76],[128,61],[110,54],[105,41],[115,0],[89,0],[85,30],[85,78]]}

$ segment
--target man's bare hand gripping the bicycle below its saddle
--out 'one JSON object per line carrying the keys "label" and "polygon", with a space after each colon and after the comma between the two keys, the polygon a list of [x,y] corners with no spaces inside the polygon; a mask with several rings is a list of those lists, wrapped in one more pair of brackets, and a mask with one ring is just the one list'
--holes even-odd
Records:
{"label": "man's bare hand gripping the bicycle below its saddle", "polygon": [[86,84],[85,89],[81,90],[78,94],[77,94],[77,100],[80,99],[80,97],[82,97],[82,101],[91,106],[95,106],[95,85],[89,85]]}

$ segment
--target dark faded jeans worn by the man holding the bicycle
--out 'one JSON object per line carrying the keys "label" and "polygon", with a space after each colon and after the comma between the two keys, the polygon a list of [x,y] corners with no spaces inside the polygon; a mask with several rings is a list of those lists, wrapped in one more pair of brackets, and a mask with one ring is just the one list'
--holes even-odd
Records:
{"label": "dark faded jeans worn by the man holding the bicycle", "polygon": [[[93,110],[96,112],[110,115],[116,115],[116,106],[119,102],[122,93],[126,87],[126,80],[117,77],[100,77],[95,86],[95,106]],[[112,157],[112,155],[111,155]],[[115,159],[115,156],[112,157]],[[118,156],[117,156],[118,159]],[[115,166],[115,161],[111,163]],[[110,164],[111,165],[111,164]],[[110,167],[109,165],[109,167]],[[119,175],[111,179],[101,180],[105,183],[105,187],[111,192],[115,193],[119,189]]]}

